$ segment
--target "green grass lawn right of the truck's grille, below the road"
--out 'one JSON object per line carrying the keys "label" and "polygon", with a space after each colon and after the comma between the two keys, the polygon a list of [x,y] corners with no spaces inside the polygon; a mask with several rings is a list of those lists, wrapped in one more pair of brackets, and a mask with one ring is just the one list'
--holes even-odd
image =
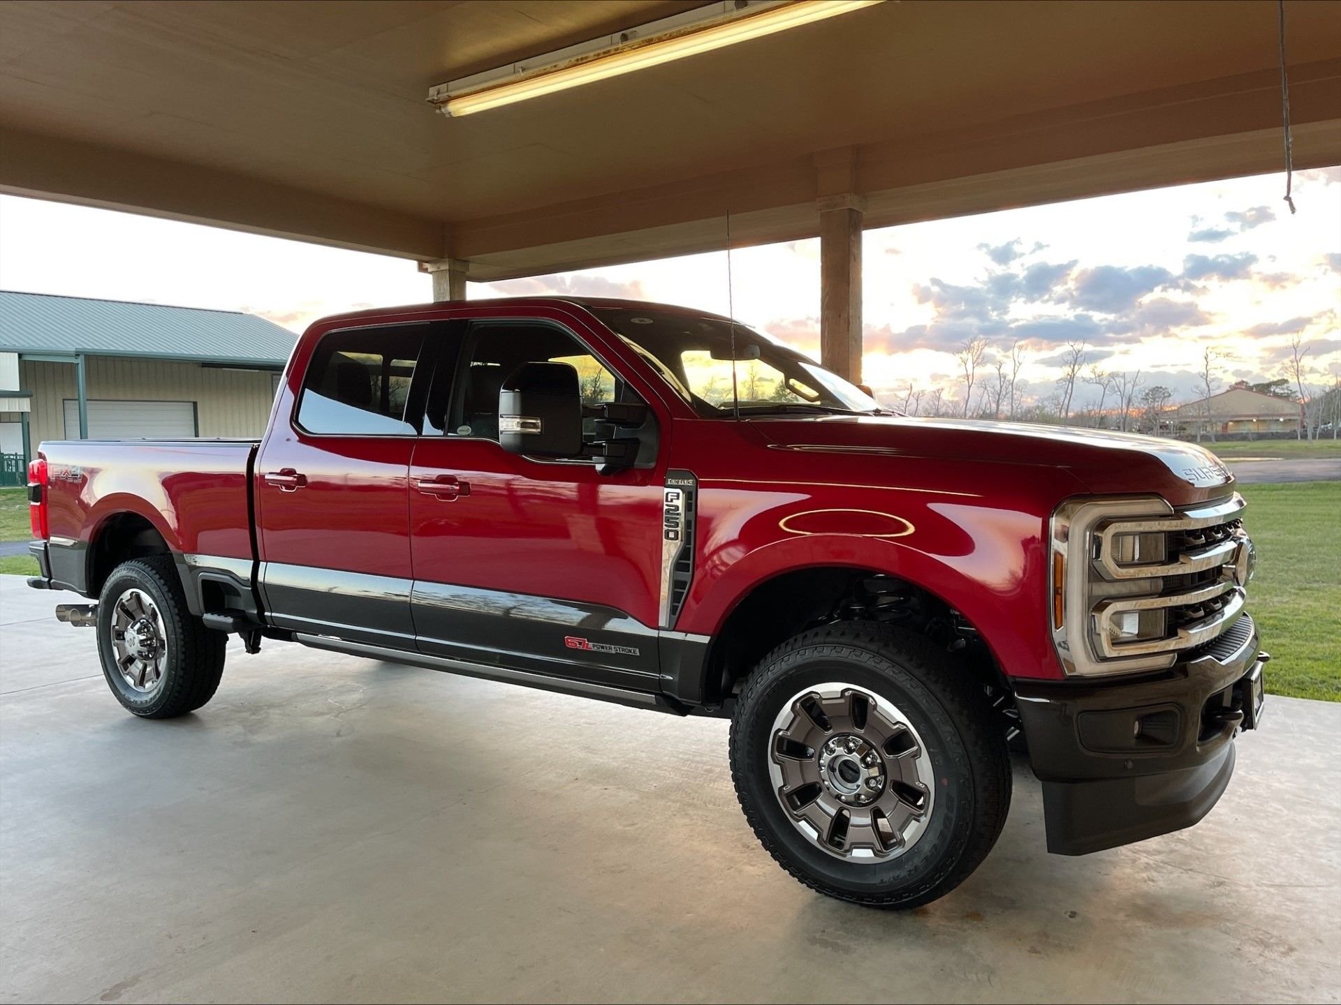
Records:
{"label": "green grass lawn right of the truck's grille, below the road", "polygon": [[1242,485],[1258,547],[1248,612],[1274,659],[1266,689],[1341,701],[1341,481]]}

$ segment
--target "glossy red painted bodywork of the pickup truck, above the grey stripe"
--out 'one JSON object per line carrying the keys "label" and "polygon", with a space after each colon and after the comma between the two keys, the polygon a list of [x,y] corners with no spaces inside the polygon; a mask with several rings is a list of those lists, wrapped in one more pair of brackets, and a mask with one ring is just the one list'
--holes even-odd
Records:
{"label": "glossy red painted bodywork of the pickup truck, above the grey stripe", "polygon": [[[292,421],[326,332],[471,318],[567,326],[646,398],[660,427],[656,466],[599,476],[492,441],[312,437]],[[173,551],[251,556],[251,445],[48,450],[52,535],[87,541],[107,516],[135,512]],[[1148,438],[892,417],[703,419],[579,303],[430,304],[330,318],[303,335],[251,484],[259,557],[605,604],[657,627],[669,469],[699,480],[696,570],[675,630],[713,635],[752,590],[784,572],[870,570],[957,610],[1006,674],[1045,679],[1062,677],[1043,548],[1057,505],[1089,493],[1185,504],[1232,485],[1199,448]]]}

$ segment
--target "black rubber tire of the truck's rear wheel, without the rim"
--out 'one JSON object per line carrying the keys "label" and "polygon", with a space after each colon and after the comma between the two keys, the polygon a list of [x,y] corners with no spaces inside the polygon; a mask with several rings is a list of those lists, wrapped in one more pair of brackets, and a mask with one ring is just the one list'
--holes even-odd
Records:
{"label": "black rubber tire of the truck's rear wheel, without the rim", "polygon": [[[162,615],[168,658],[162,681],[143,694],[127,686],[117,669],[113,607],[127,588],[149,594]],[[156,555],[125,561],[111,571],[98,600],[98,657],[111,693],[141,718],[173,718],[194,712],[215,697],[224,673],[228,636],[207,628],[186,607],[186,595],[172,557]]]}

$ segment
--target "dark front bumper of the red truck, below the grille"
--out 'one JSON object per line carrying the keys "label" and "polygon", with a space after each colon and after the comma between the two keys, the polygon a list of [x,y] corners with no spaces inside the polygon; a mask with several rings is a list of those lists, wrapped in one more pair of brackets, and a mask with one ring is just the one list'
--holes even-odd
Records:
{"label": "dark front bumper of the red truck, below the grille", "polygon": [[1269,658],[1243,615],[1156,678],[1016,681],[1047,850],[1088,855],[1206,816],[1234,773],[1235,733],[1255,725],[1250,679]]}

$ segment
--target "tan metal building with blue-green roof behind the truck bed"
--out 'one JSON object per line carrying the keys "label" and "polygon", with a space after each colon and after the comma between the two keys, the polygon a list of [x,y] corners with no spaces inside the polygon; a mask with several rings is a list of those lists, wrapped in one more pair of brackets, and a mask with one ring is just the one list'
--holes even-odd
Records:
{"label": "tan metal building with blue-green roof behind the truck bed", "polygon": [[236,311],[0,291],[0,480],[44,440],[256,436],[295,340]]}

